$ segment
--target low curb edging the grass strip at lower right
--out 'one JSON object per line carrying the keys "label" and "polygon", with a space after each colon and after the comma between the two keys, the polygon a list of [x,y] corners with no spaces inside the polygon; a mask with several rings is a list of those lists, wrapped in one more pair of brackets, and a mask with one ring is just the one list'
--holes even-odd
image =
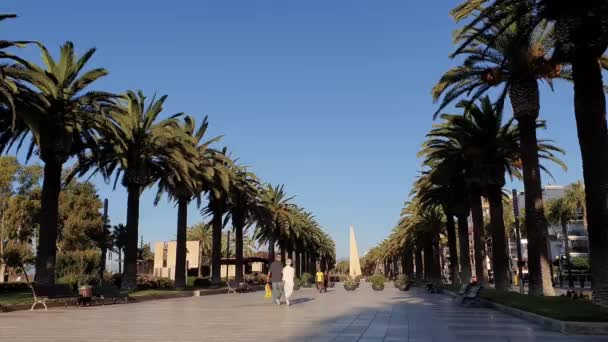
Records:
{"label": "low curb edging the grass strip at lower right", "polygon": [[[451,297],[459,297],[456,293],[449,290],[443,290],[442,293]],[[484,307],[492,308],[511,316],[519,317],[526,321],[536,323],[550,331],[557,331],[568,335],[608,335],[608,322],[560,321],[555,318],[545,317],[532,312],[495,303],[487,299],[481,299],[480,302]]]}

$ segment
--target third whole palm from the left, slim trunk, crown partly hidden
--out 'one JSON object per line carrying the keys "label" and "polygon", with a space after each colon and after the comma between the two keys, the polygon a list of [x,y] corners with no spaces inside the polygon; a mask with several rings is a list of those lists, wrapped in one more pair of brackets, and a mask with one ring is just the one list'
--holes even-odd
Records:
{"label": "third whole palm from the left, slim trunk, crown partly hidden", "polygon": [[[213,138],[209,141],[202,141],[207,131],[209,122],[207,117],[203,119],[198,130],[194,118],[187,116],[184,118],[183,130],[185,134],[192,138],[195,150],[194,159],[189,162],[188,172],[183,175],[180,173],[170,173],[167,177],[161,177],[158,181],[158,192],[154,204],[158,204],[163,193],[167,193],[169,198],[177,202],[177,234],[176,234],[176,256],[175,256],[175,287],[184,288],[186,286],[186,235],[188,222],[188,205],[194,198],[200,202],[200,193],[208,191],[215,177],[215,163],[213,154],[216,153],[209,146],[218,141]],[[178,272],[178,270],[180,270]],[[181,270],[184,270],[183,272]]]}

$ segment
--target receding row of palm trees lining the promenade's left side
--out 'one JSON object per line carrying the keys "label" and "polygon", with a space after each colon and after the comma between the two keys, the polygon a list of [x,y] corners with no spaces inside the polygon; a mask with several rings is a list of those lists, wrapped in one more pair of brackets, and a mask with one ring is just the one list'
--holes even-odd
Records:
{"label": "receding row of palm trees lining the promenade's left side", "polygon": [[[86,70],[95,49],[78,56],[67,42],[54,59],[42,44],[32,43],[42,54],[44,65],[38,66],[6,51],[23,44],[29,42],[0,41],[0,59],[7,62],[0,72],[0,152],[26,148],[28,158],[36,153],[44,163],[36,282],[55,281],[58,197],[70,158],[76,162],[65,183],[99,174],[127,190],[127,289],[136,285],[140,197],[155,185],[155,204],[166,194],[177,205],[178,270],[186,268],[188,205],[203,199],[207,204],[201,213],[212,224],[212,282],[220,282],[222,229],[229,222],[236,236],[238,280],[243,277],[243,231],[253,225],[270,259],[278,245],[283,257],[293,253],[297,263],[333,264],[334,243],[312,214],[293,204],[283,186],[261,183],[225,148],[214,148],[219,138],[206,136],[207,118],[199,125],[184,113],[161,119],[166,95],[147,99],[141,91],[93,90],[108,75],[102,68]],[[176,287],[185,286],[183,273],[176,272]]]}

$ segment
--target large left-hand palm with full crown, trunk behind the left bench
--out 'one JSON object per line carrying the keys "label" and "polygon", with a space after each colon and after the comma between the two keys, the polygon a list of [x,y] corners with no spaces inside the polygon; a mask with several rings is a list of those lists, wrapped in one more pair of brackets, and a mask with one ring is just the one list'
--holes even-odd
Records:
{"label": "large left-hand palm with full crown, trunk behind the left bench", "polygon": [[[44,162],[40,235],[36,257],[36,282],[54,284],[57,240],[57,215],[63,164],[74,155],[82,156],[93,144],[93,129],[101,121],[102,109],[111,107],[114,95],[87,90],[98,79],[106,76],[105,69],[84,71],[95,54],[90,49],[77,56],[71,42],[61,47],[59,60],[40,45],[45,67],[22,61],[19,66],[7,67],[8,73],[20,80],[19,96],[14,104],[18,119],[23,123],[21,137],[33,136]],[[21,145],[21,143],[19,143]]]}

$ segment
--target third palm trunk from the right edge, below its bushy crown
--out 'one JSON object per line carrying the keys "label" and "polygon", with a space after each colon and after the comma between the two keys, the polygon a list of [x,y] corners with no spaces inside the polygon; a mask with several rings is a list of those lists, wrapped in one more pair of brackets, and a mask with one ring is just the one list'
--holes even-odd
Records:
{"label": "third palm trunk from the right edge, below its bushy crown", "polygon": [[497,290],[506,290],[509,283],[509,257],[502,207],[502,188],[488,186],[488,201],[490,202],[490,226],[492,234],[492,269],[494,284]]}

